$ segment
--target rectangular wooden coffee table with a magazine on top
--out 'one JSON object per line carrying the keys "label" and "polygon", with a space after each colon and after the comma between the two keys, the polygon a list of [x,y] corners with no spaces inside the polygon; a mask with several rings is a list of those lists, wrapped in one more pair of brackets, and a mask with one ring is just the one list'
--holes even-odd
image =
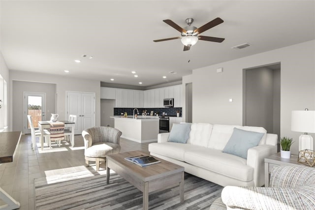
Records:
{"label": "rectangular wooden coffee table with a magazine on top", "polygon": [[108,155],[106,157],[107,184],[109,183],[109,170],[125,178],[133,186],[143,193],[143,209],[149,207],[149,193],[172,187],[179,184],[179,195],[181,203],[184,202],[184,167],[170,163],[155,157],[161,163],[141,167],[125,160],[126,157],[136,155],[149,155],[141,151],[131,151]]}

